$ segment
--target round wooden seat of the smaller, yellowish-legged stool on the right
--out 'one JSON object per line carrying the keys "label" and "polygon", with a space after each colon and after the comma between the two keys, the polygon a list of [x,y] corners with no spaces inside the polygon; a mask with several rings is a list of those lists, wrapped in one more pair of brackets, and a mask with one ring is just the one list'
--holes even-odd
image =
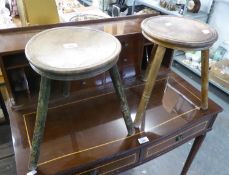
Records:
{"label": "round wooden seat of the smaller, yellowish-legged stool on the right", "polygon": [[209,48],[218,38],[216,30],[209,25],[176,16],[147,18],[141,28],[143,35],[150,41],[179,50]]}

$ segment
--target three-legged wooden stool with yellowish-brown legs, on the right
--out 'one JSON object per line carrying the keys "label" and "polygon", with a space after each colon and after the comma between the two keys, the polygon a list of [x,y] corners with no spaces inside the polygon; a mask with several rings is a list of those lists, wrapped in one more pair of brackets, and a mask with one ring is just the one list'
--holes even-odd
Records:
{"label": "three-legged wooden stool with yellowish-brown legs, on the right", "polygon": [[166,48],[182,51],[201,50],[201,109],[208,109],[209,48],[218,38],[216,30],[198,21],[166,15],[145,19],[141,28],[144,37],[155,45],[134,121],[135,127],[141,125]]}

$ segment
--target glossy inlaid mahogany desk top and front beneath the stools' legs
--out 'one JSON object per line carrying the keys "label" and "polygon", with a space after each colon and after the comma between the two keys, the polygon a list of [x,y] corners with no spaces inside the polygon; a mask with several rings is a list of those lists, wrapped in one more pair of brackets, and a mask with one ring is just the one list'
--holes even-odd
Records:
{"label": "glossy inlaid mahogany desk top and front beneath the stools' legs", "polygon": [[[143,87],[141,83],[126,89],[132,116],[135,116]],[[121,172],[206,133],[222,110],[211,100],[208,110],[200,110],[200,92],[174,73],[159,77],[152,94],[144,125],[133,136],[127,136],[113,92],[50,107],[38,174]],[[28,170],[36,113],[34,109],[8,110],[17,173],[24,175]],[[143,136],[147,136],[149,142],[140,145],[137,139]],[[159,151],[151,152],[151,147],[158,144],[162,144]],[[140,153],[145,151],[148,156],[144,158]]]}

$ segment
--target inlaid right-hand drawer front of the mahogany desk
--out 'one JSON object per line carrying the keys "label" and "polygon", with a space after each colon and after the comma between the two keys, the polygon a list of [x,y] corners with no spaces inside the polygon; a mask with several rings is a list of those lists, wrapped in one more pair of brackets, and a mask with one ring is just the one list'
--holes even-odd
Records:
{"label": "inlaid right-hand drawer front of the mahogany desk", "polygon": [[192,127],[176,135],[173,135],[158,144],[154,144],[146,147],[143,151],[143,160],[153,158],[158,154],[161,154],[162,152],[166,151],[167,149],[179,145],[179,143],[182,142],[183,140],[193,137],[196,134],[207,129],[207,126],[208,126],[208,121],[202,121],[201,123],[193,125]]}

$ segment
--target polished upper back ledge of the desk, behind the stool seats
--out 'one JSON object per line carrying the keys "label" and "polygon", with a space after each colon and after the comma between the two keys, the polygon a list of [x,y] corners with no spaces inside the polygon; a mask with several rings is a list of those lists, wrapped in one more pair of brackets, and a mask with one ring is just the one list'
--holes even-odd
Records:
{"label": "polished upper back ledge of the desk, behind the stool seats", "polygon": [[87,28],[93,28],[110,33],[118,38],[125,36],[127,34],[139,34],[141,33],[141,22],[151,15],[137,15],[131,17],[120,17],[111,19],[100,19],[93,21],[81,21],[72,22],[65,24],[55,24],[55,25],[45,25],[45,26],[34,26],[26,28],[8,29],[1,30],[0,33],[0,55],[6,53],[15,53],[17,51],[23,51],[26,43],[35,34],[49,28],[62,27],[62,26],[83,26]]}

